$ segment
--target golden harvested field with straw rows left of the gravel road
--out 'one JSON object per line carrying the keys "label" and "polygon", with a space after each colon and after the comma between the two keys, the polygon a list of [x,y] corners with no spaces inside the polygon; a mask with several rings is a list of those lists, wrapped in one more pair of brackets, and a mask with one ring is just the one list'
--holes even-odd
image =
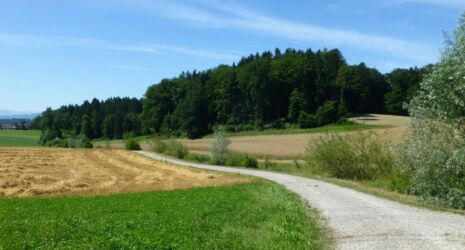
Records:
{"label": "golden harvested field with straw rows left of the gravel road", "polygon": [[0,196],[110,194],[248,182],[122,150],[0,148]]}

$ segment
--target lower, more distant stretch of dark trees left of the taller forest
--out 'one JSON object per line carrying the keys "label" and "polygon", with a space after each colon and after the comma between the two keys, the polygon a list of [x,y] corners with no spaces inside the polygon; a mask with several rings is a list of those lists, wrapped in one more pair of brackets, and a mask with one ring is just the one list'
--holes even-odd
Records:
{"label": "lower, more distant stretch of dark trees left of the taller forest", "polygon": [[93,99],[82,105],[48,108],[31,126],[42,130],[42,143],[78,135],[114,139],[126,133],[141,134],[141,114],[142,103],[136,98]]}

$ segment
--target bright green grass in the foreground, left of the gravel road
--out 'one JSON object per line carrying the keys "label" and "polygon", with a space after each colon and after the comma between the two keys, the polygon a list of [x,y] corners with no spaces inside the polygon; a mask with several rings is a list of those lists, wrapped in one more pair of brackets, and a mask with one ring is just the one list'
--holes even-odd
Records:
{"label": "bright green grass in the foreground, left of the gravel road", "polygon": [[0,249],[321,249],[327,242],[314,211],[264,181],[107,197],[0,199]]}

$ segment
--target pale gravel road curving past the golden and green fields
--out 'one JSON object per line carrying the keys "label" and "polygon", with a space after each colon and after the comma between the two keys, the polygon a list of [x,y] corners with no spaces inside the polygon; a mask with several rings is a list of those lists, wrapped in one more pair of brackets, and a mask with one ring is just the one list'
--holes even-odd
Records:
{"label": "pale gravel road curving past the golden and green fields", "polygon": [[465,249],[465,216],[414,208],[304,177],[139,153],[177,165],[246,174],[284,185],[320,211],[334,231],[337,249]]}

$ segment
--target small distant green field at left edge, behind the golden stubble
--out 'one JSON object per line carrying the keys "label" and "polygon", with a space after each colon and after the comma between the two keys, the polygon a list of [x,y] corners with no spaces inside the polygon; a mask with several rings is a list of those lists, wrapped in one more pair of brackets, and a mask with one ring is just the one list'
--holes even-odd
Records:
{"label": "small distant green field at left edge, behind the golden stubble", "polygon": [[38,130],[0,130],[0,147],[39,146]]}

